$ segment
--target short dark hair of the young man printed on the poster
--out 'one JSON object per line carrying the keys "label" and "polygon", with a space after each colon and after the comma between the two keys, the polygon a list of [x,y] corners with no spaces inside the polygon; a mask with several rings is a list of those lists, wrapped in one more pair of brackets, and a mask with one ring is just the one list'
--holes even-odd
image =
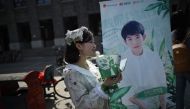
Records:
{"label": "short dark hair of the young man printed on the poster", "polygon": [[127,35],[134,35],[134,34],[144,35],[144,26],[137,21],[129,21],[123,26],[121,30],[121,35],[125,40]]}

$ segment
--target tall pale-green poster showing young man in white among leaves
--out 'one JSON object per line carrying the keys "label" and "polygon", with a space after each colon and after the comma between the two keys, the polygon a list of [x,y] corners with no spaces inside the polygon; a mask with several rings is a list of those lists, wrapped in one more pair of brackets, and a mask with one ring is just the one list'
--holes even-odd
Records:
{"label": "tall pale-green poster showing young man in white among leaves", "polygon": [[156,97],[164,96],[166,107],[174,108],[169,0],[103,1],[100,11],[103,53],[127,59],[118,87],[130,89],[120,96],[120,104],[138,109],[139,101],[141,108],[157,109],[162,102]]}

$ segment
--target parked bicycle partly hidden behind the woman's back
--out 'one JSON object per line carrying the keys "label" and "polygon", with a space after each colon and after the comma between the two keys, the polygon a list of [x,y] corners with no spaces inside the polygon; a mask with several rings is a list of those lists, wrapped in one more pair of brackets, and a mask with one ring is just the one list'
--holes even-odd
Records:
{"label": "parked bicycle partly hidden behind the woman's back", "polygon": [[[59,75],[62,75],[62,72],[63,72],[64,68],[65,68],[64,65],[56,67],[55,68],[55,73],[58,73]],[[64,77],[59,76],[59,77],[56,77],[56,78],[58,78],[58,80],[56,81],[56,83],[54,84],[54,87],[53,87],[55,94],[58,95],[61,98],[70,99],[71,97],[70,97],[69,91],[66,88],[65,83],[64,83]],[[64,90],[64,93],[63,93],[63,90]]]}

